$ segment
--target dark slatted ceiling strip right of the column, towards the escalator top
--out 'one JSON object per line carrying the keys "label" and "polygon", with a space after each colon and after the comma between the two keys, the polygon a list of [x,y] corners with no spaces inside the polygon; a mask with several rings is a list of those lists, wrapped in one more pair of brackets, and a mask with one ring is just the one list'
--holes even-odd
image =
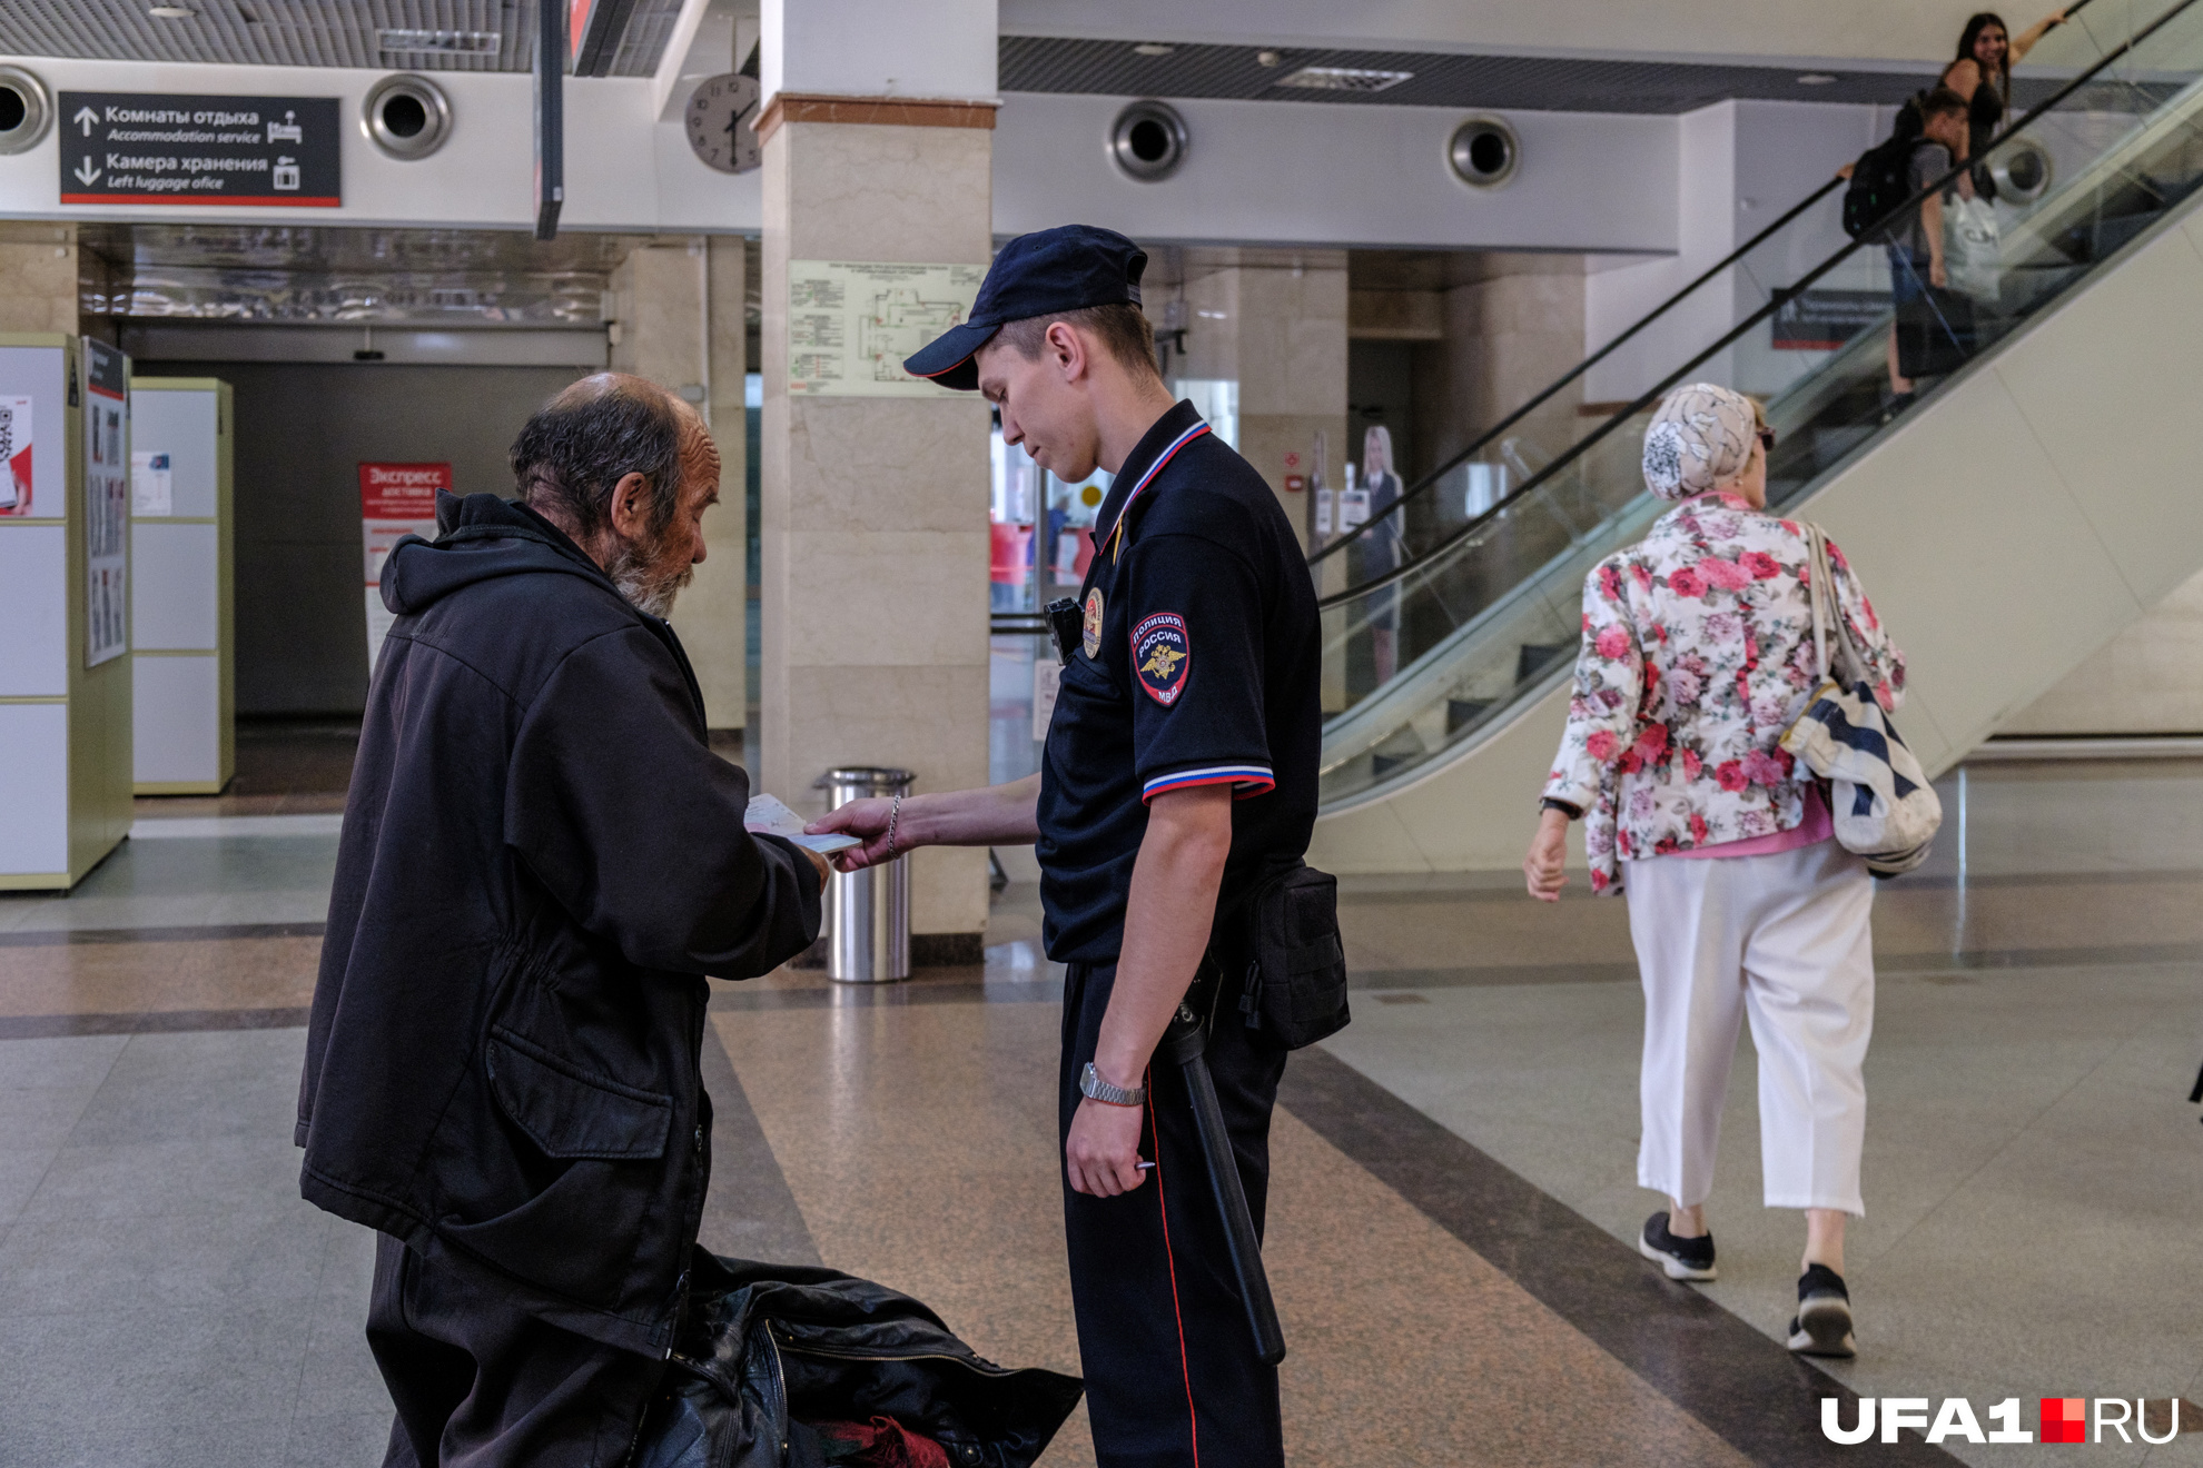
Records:
{"label": "dark slatted ceiling strip right of the column, towards the escalator top", "polygon": [[[1005,92],[1099,92],[1110,97],[1227,97],[1337,106],[1500,108],[1509,112],[1690,112],[1732,97],[1780,101],[1897,103],[1934,81],[1932,73],[1806,73],[1771,66],[1685,62],[1591,62],[1577,57],[1447,55],[1430,51],[1258,51],[1256,46],[1170,46],[1141,55],[1137,42],[1002,37]],[[1262,57],[1276,57],[1271,66]],[[1403,70],[1383,90],[1278,86],[1304,66]],[[1820,84],[1802,75],[1831,77]]]}

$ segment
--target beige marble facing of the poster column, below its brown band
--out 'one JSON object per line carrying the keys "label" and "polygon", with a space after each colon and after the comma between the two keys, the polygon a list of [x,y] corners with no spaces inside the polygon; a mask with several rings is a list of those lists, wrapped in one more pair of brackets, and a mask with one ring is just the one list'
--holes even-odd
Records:
{"label": "beige marble facing of the poster column, below its brown band", "polygon": [[[987,405],[791,398],[789,260],[987,264],[994,134],[782,123],[764,143],[762,788],[828,766],[987,784]],[[912,933],[983,933],[987,852],[912,856]]]}

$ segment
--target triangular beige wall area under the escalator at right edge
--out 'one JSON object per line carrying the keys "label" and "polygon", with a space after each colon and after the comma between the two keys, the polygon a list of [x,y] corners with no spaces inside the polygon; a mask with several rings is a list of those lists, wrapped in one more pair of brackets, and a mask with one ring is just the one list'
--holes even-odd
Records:
{"label": "triangular beige wall area under the escalator at right edge", "polygon": [[1996,733],[2203,733],[2203,577],[2157,603]]}

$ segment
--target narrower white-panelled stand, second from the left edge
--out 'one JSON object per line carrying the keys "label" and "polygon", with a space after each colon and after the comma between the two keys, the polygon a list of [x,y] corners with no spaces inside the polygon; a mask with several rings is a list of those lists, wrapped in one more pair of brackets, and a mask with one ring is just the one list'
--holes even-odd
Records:
{"label": "narrower white-panelled stand, second from the left edge", "polygon": [[238,768],[229,383],[139,376],[130,414],[137,792],[218,795]]}

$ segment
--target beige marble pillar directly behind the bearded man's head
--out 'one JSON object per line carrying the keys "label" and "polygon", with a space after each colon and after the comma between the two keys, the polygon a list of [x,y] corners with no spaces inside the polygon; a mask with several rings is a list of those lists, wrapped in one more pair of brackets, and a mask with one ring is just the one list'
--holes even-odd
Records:
{"label": "beige marble pillar directly behind the bearded man's head", "polygon": [[648,376],[692,401],[718,445],[718,504],[705,513],[705,561],[674,607],[674,629],[696,667],[705,722],[740,728],[749,704],[745,667],[749,513],[742,471],[742,251],[740,238],[656,240],[612,273],[612,370]]}

